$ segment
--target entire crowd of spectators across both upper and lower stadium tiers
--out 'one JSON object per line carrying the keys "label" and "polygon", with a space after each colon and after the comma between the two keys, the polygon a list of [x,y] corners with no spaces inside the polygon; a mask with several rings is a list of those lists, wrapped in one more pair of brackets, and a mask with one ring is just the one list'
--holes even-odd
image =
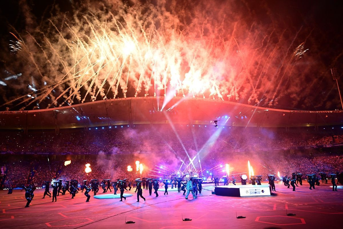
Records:
{"label": "entire crowd of spectators across both upper and lower stadium tiers", "polygon": [[[20,186],[32,182],[40,186],[45,180],[53,178],[79,181],[105,178],[133,180],[137,175],[148,175],[146,172],[141,175],[135,170],[127,171],[128,164],[135,169],[132,155],[137,153],[143,154],[146,161],[153,161],[152,159],[156,158],[163,161],[167,155],[182,155],[181,158],[187,160],[186,154],[193,158],[201,151],[202,164],[194,161],[198,169],[211,169],[218,163],[225,162],[230,163],[234,169],[232,172],[236,173],[246,171],[248,160],[254,166],[255,174],[261,175],[277,172],[285,175],[292,172],[307,174],[342,171],[342,156],[285,156],[273,153],[276,149],[287,152],[285,149],[291,147],[343,144],[343,129],[340,127],[329,127],[326,130],[321,128],[317,131],[309,128],[290,128],[285,131],[283,128],[214,128],[212,125],[186,124],[176,125],[173,129],[170,125],[164,124],[92,127],[87,131],[65,129],[59,134],[56,134],[55,130],[29,130],[27,134],[21,130],[1,131],[3,137],[0,139],[0,151],[14,152],[14,158],[17,154],[66,153],[74,154],[69,157],[79,157],[67,166],[64,166],[64,161],[68,156],[63,156],[63,159],[62,156],[58,159],[56,156],[50,156],[50,161],[47,156],[40,156],[34,160],[25,157],[22,157],[22,160],[8,160],[1,167],[1,185]],[[237,151],[240,153],[236,153]],[[268,155],[261,157],[263,152]],[[83,158],[80,154],[83,154]],[[95,155],[87,155],[85,159],[85,154]],[[180,157],[174,159],[173,169],[176,170],[176,167],[180,168],[180,164],[177,165],[180,163]],[[91,164],[92,172],[89,174],[84,172],[86,163]],[[149,166],[151,169],[153,164]],[[211,172],[223,175],[221,169]]]}

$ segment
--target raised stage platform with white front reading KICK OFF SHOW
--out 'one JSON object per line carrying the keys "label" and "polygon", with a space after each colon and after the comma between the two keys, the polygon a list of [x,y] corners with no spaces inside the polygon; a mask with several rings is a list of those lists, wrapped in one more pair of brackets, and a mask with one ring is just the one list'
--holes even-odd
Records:
{"label": "raised stage platform with white front reading KICK OFF SHOW", "polygon": [[222,185],[214,188],[220,196],[270,196],[269,185]]}

